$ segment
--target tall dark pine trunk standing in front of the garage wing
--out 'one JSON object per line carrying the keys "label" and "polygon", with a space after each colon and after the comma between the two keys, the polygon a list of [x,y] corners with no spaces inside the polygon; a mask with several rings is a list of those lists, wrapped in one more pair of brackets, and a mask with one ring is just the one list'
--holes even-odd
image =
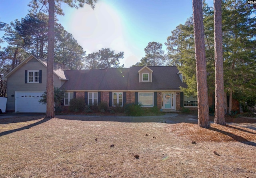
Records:
{"label": "tall dark pine trunk standing in front of the garage wing", "polygon": [[46,118],[54,117],[54,86],[53,86],[53,60],[54,60],[54,0],[48,0],[48,55],[47,55],[47,85],[46,85]]}

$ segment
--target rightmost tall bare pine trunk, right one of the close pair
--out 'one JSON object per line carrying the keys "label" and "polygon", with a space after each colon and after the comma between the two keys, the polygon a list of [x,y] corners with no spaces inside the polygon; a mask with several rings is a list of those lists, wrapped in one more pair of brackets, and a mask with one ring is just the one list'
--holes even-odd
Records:
{"label": "rightmost tall bare pine trunk, right one of the close pair", "polygon": [[225,125],[222,54],[222,0],[214,0],[215,116],[214,124]]}

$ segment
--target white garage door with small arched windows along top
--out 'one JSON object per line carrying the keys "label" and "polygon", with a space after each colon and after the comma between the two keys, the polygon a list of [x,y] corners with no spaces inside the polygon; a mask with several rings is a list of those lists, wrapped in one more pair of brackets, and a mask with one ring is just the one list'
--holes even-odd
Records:
{"label": "white garage door with small arched windows along top", "polygon": [[15,92],[15,112],[46,112],[46,105],[38,102],[44,92]]}

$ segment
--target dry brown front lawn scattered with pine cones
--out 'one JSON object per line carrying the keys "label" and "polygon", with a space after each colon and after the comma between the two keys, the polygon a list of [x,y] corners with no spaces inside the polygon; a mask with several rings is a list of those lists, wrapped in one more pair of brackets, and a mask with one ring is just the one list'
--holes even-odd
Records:
{"label": "dry brown front lawn scattered with pine cones", "polygon": [[1,178],[256,177],[255,130],[58,117],[0,120]]}

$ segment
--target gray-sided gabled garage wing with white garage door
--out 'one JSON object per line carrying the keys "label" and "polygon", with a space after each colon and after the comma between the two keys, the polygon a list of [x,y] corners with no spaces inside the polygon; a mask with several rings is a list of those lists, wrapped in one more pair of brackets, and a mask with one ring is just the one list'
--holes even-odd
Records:
{"label": "gray-sided gabled garage wing with white garage door", "polygon": [[[46,59],[30,55],[4,77],[7,111],[46,112],[46,105],[38,102],[46,91],[46,66]],[[64,70],[68,68],[54,63],[54,86],[61,87],[67,81]]]}

